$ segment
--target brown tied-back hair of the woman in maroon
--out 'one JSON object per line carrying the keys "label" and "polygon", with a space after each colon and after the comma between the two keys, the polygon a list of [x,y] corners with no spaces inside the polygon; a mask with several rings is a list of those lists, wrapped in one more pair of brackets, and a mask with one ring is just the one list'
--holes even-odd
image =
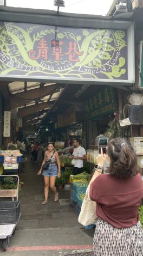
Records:
{"label": "brown tied-back hair of the woman in maroon", "polygon": [[118,178],[129,178],[139,173],[137,155],[131,143],[124,138],[111,139],[108,142],[107,154],[111,159],[107,173]]}

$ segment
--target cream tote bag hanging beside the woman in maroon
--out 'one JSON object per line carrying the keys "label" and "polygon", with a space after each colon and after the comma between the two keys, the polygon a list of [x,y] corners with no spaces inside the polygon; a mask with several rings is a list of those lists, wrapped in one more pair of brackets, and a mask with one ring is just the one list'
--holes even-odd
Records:
{"label": "cream tote bag hanging beside the woman in maroon", "polygon": [[95,214],[96,202],[89,199],[90,184],[87,187],[86,196],[83,199],[81,211],[79,215],[79,223],[83,226],[95,224],[98,220],[98,216]]}

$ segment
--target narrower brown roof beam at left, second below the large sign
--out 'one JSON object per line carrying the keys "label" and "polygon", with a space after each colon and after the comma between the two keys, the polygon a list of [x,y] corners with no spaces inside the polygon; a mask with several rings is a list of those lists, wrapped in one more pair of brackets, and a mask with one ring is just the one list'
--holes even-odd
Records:
{"label": "narrower brown roof beam at left, second below the large sign", "polygon": [[39,103],[29,107],[23,107],[18,109],[17,117],[25,117],[31,113],[50,107],[50,103]]}

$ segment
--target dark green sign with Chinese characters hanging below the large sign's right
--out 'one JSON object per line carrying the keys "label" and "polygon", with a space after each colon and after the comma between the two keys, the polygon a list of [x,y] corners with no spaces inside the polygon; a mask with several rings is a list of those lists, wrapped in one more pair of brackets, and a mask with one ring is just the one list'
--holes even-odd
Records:
{"label": "dark green sign with Chinese characters hanging below the large sign's right", "polygon": [[95,95],[90,97],[85,105],[88,120],[101,115],[114,113],[115,110],[116,99],[114,88],[112,87],[97,89]]}

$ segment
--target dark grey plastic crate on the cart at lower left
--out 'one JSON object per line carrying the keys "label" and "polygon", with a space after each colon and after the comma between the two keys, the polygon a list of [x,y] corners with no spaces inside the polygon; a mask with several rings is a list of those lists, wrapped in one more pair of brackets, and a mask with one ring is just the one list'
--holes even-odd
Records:
{"label": "dark grey plastic crate on the cart at lower left", "polygon": [[0,202],[0,224],[17,223],[20,215],[20,202]]}

